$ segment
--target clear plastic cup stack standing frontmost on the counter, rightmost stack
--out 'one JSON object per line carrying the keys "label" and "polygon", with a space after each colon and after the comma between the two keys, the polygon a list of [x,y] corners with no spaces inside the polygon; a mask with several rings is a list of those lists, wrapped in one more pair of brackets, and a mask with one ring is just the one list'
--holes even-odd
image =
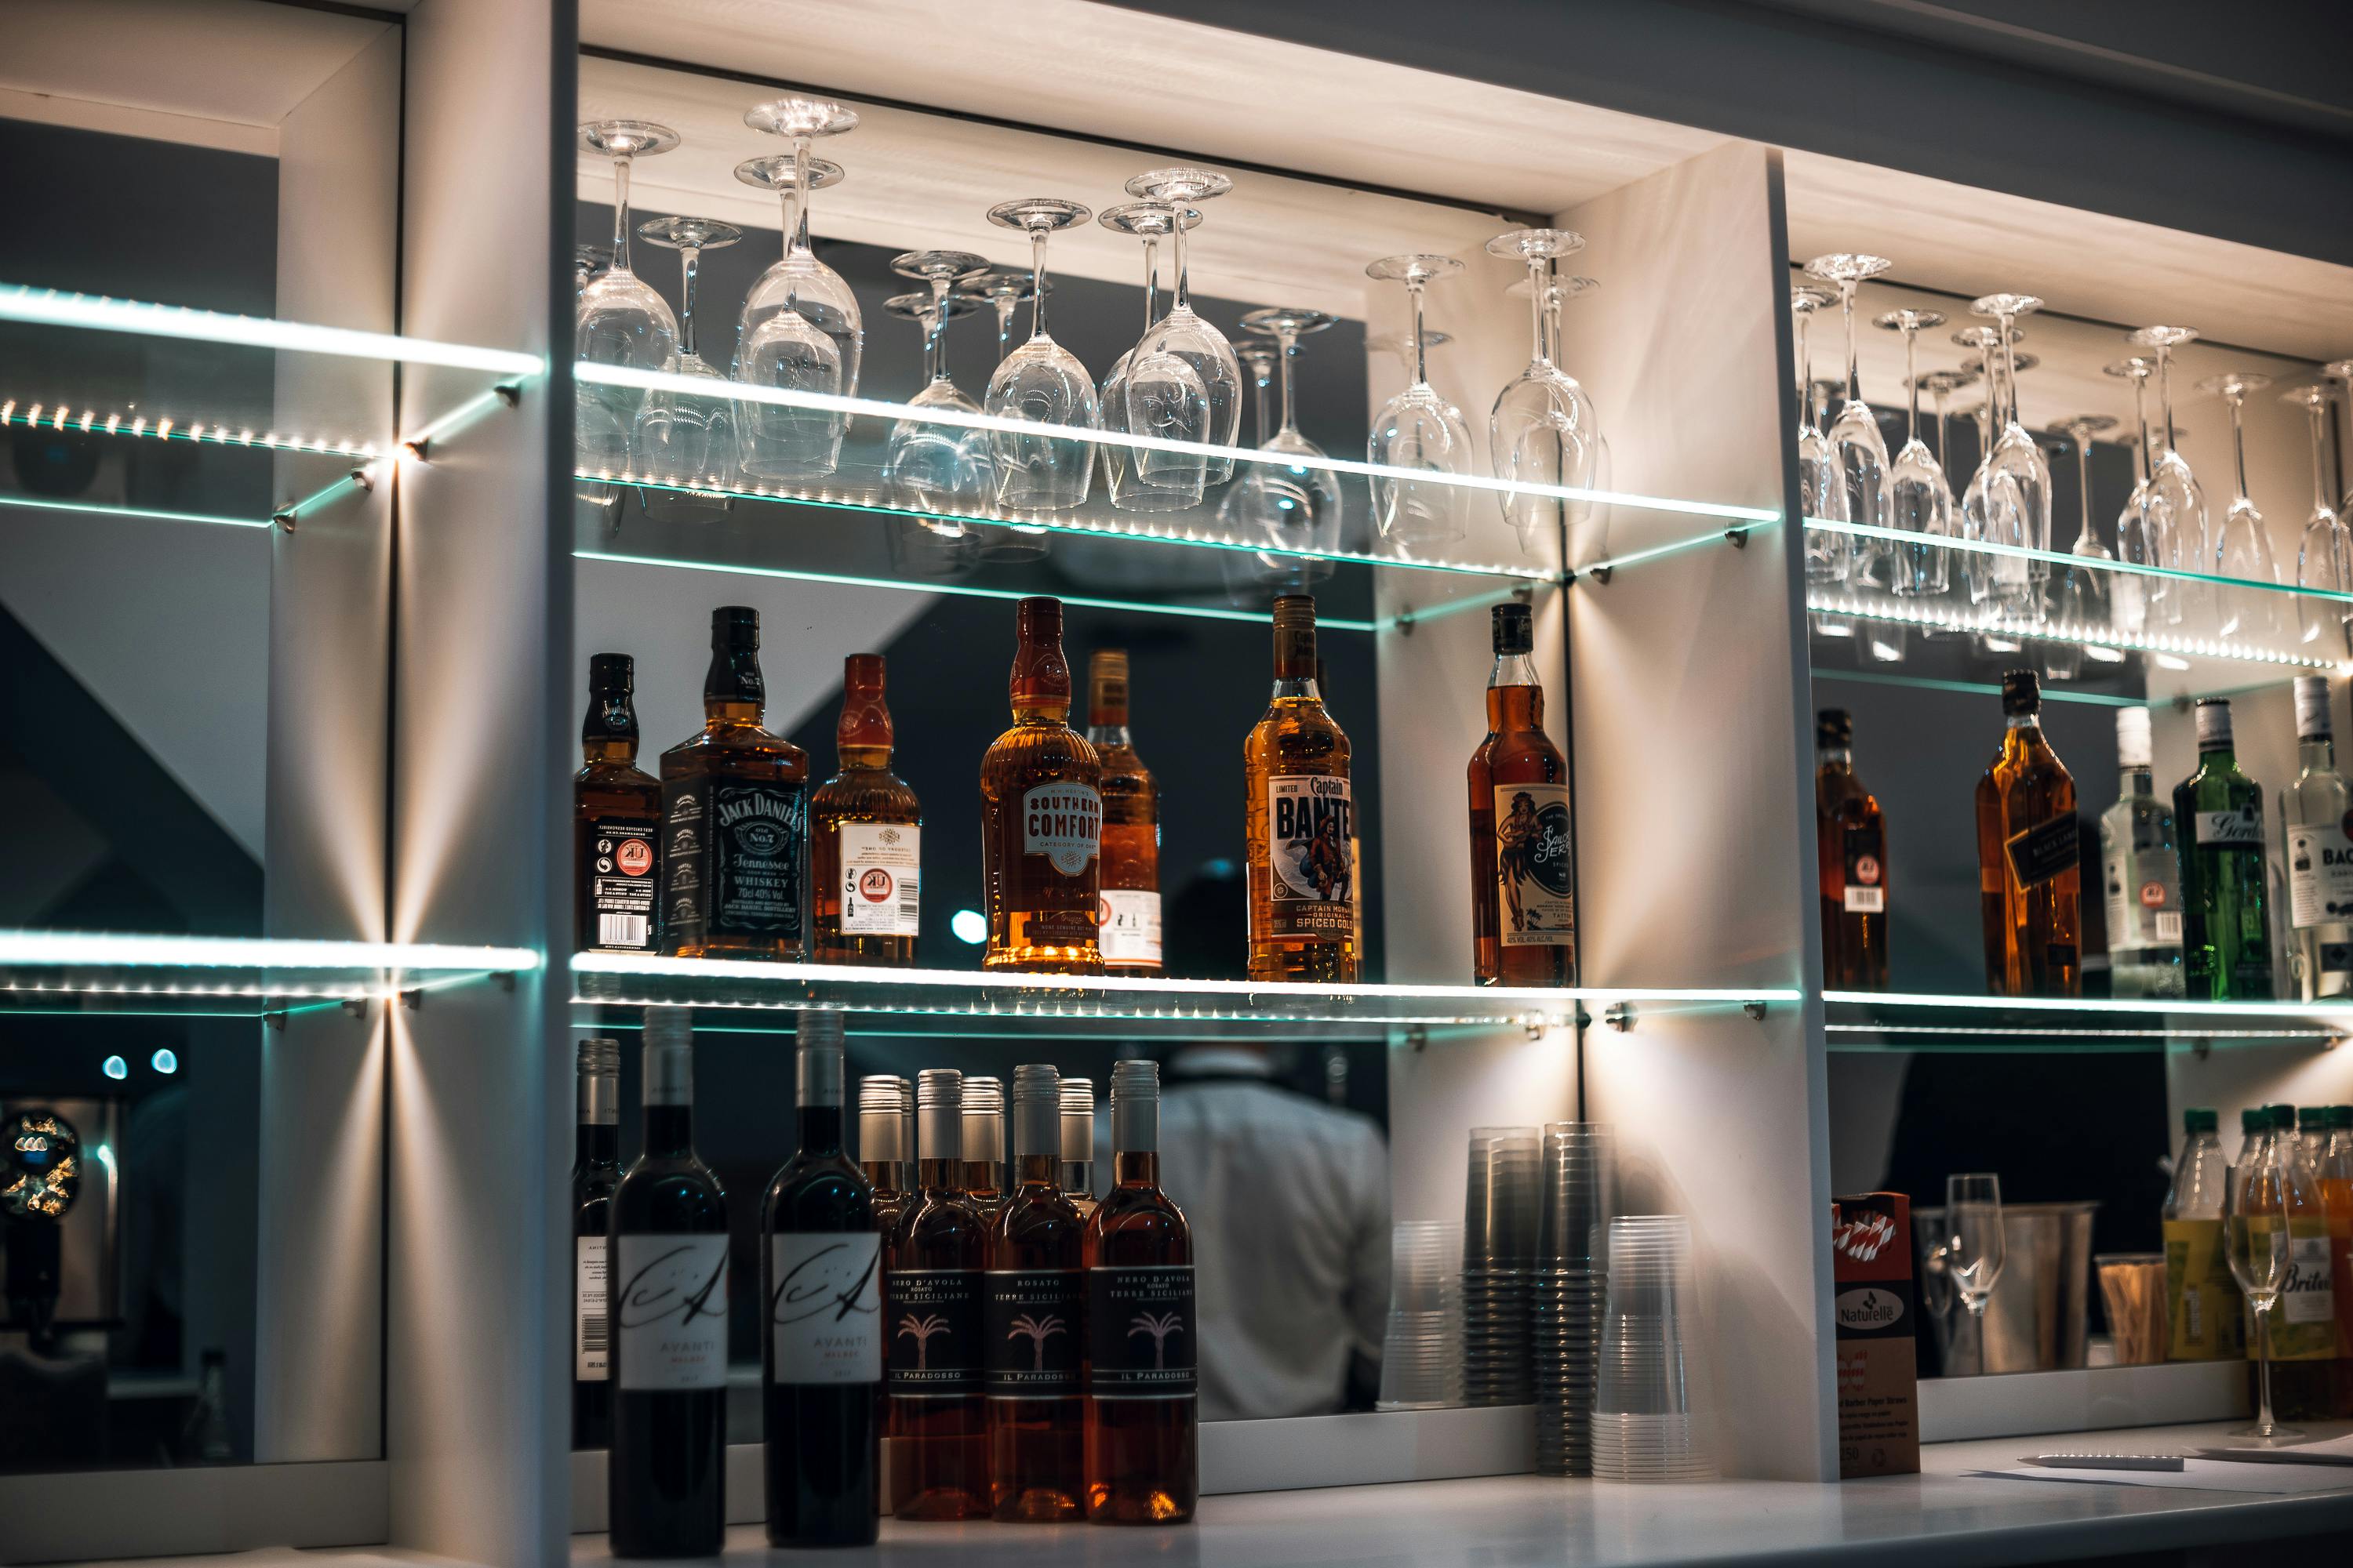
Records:
{"label": "clear plastic cup stack standing frontmost on the counter, rightmost stack", "polygon": [[1595,1481],[1713,1481],[1692,1222],[1609,1220],[1609,1305],[1593,1399]]}

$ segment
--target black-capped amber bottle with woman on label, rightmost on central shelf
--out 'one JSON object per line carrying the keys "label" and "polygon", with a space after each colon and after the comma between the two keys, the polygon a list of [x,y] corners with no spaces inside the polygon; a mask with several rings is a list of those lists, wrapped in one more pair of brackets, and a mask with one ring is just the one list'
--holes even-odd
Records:
{"label": "black-capped amber bottle with woman on label, rightmost on central shelf", "polygon": [[1487,738],[1471,752],[1471,969],[1480,985],[1567,985],[1577,964],[1569,764],[1544,733],[1527,604],[1494,607]]}

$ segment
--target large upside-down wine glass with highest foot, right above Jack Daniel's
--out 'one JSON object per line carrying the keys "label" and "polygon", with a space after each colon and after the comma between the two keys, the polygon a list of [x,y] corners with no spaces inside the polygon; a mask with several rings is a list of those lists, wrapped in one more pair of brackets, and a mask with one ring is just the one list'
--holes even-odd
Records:
{"label": "large upside-down wine glass with highest foot, right above Jack Daniel's", "polygon": [[[784,259],[760,273],[744,296],[734,378],[793,393],[856,390],[864,324],[847,341],[833,331],[845,317],[856,320],[856,296],[809,247],[809,193],[838,186],[842,165],[805,158],[802,148],[793,155],[751,158],[734,174],[746,186],[774,190],[784,202]],[[826,477],[840,463],[847,430],[849,421],[833,409],[751,400],[736,409],[744,473],[762,480]]]}

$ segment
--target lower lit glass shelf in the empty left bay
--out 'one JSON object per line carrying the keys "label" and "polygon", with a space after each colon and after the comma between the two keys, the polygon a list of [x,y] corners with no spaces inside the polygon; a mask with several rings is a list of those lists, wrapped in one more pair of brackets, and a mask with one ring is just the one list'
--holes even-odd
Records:
{"label": "lower lit glass shelf in the empty left bay", "polygon": [[527,947],[0,931],[0,1013],[266,1018],[534,969]]}

